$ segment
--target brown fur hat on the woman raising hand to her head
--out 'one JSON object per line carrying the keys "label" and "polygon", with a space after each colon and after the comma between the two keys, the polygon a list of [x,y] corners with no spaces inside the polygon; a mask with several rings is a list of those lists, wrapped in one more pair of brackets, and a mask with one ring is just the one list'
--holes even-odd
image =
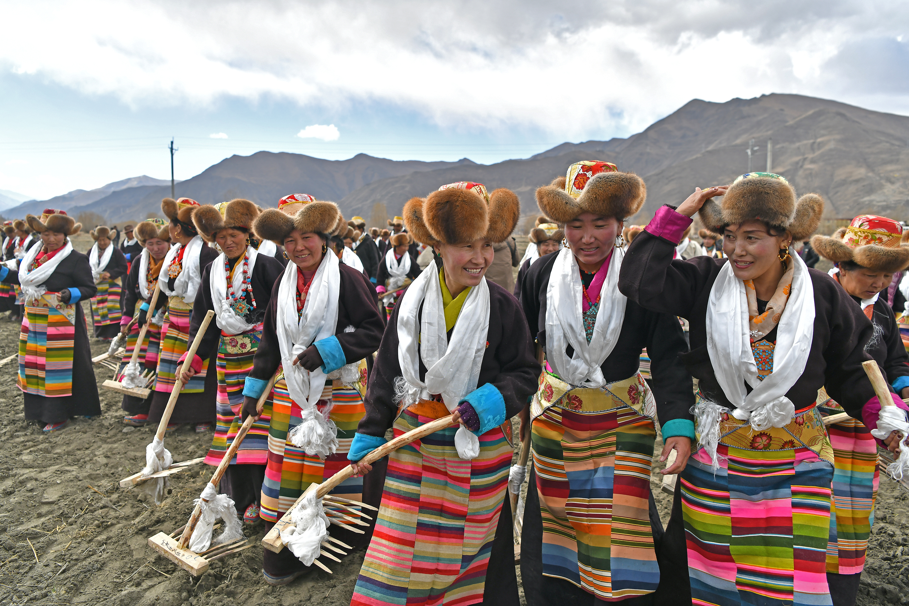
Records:
{"label": "brown fur hat on the woman raising hand to her head", "polygon": [[723,233],[726,225],[757,219],[792,233],[793,240],[806,240],[821,223],[824,199],[804,194],[796,202],[795,189],[773,173],[745,173],[735,179],[721,202],[707,200],[698,211],[704,226]]}

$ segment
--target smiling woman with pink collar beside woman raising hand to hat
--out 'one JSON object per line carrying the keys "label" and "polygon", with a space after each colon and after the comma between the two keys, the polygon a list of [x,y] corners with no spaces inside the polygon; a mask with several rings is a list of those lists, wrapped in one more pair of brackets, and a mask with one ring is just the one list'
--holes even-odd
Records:
{"label": "smiling woman with pink collar beside woman raising hand to hat", "polygon": [[[521,541],[521,579],[532,606],[604,601],[659,603],[663,525],[650,492],[659,419],[664,473],[684,468],[694,439],[688,350],[678,320],[629,301],[617,287],[625,217],[644,204],[644,182],[614,164],[581,162],[536,191],[564,224],[566,246],[541,257],[521,304],[546,354],[530,404],[534,472]],[[639,372],[650,353],[654,379]],[[526,420],[526,417],[524,417]]]}

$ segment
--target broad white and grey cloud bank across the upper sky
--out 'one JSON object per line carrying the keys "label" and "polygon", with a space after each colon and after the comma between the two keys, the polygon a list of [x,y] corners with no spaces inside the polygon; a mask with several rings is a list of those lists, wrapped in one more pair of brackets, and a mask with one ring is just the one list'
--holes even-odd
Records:
{"label": "broad white and grey cloud bank across the upper sky", "polygon": [[[868,84],[831,78],[828,62],[909,23],[909,5],[866,0],[768,0],[760,11],[738,0],[50,4],[0,4],[17,24],[0,37],[0,69],[133,106],[276,97],[337,114],[384,104],[446,128],[560,139],[631,133],[693,97],[848,102]],[[875,99],[909,109],[902,90]]]}

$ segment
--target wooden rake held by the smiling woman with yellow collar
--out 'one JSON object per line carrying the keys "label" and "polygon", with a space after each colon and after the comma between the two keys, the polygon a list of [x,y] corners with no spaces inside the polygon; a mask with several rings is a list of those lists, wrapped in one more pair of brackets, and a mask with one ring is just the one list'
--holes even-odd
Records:
{"label": "wooden rake held by the smiling woman with yellow collar", "polygon": [[[382,446],[376,448],[374,451],[368,452],[366,456],[360,460],[360,462],[372,464],[384,457],[386,454],[395,452],[402,446],[406,446],[411,442],[425,438],[430,433],[438,432],[445,429],[446,427],[452,426],[453,424],[454,415],[451,414],[441,419],[436,419],[435,421],[428,422],[425,425],[421,425],[416,429],[399,435],[391,442],[386,442]],[[351,501],[350,499],[344,499],[342,497],[328,494],[329,492],[333,491],[341,482],[344,482],[347,478],[350,478],[353,475],[354,468],[350,465],[347,465],[343,470],[335,473],[335,475],[330,477],[325,482],[322,482],[321,484],[310,484],[305,492],[300,495],[300,498],[296,500],[294,505],[291,506],[283,516],[281,516],[281,519],[278,520],[275,526],[272,527],[272,530],[268,531],[268,533],[265,535],[265,538],[262,540],[262,545],[265,547],[265,549],[278,553],[285,548],[285,542],[281,539],[281,531],[294,526],[294,522],[291,522],[291,513],[294,512],[297,506],[299,506],[300,503],[303,502],[304,499],[313,492],[315,492],[315,498],[322,501],[323,507],[325,507],[325,515],[328,517],[331,523],[341,526],[348,531],[365,534],[364,531],[355,528],[355,526],[369,526],[369,524],[357,519],[357,517],[366,518],[367,520],[372,520],[372,518],[363,512],[357,512],[353,506],[357,505],[374,511],[378,510],[372,505],[367,505],[364,502]],[[353,549],[350,545],[345,545],[345,543],[338,541],[331,536],[327,537],[327,541],[335,542],[336,544],[342,545],[347,549]],[[337,549],[334,545],[329,544],[327,541],[323,541],[323,547],[345,555],[344,551]],[[329,560],[340,561],[334,555],[328,553],[325,550],[322,550],[322,556],[325,556]],[[331,572],[331,570],[321,561],[314,560],[313,563],[322,570]]]}

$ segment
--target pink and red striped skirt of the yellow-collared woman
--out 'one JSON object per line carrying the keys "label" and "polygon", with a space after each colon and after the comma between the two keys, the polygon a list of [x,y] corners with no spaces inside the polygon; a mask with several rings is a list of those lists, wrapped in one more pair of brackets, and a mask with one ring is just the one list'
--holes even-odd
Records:
{"label": "pink and red striped skirt of the yellow-collared woman", "polygon": [[[434,418],[405,410],[395,437]],[[446,428],[390,455],[352,606],[483,601],[513,449],[496,427],[480,436],[480,455],[464,461],[455,432]]]}

